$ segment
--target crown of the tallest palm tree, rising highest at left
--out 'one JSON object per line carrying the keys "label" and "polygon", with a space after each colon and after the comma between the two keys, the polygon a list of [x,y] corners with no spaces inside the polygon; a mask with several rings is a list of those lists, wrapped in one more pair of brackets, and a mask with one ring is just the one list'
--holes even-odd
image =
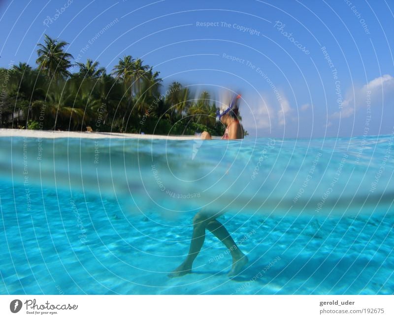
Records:
{"label": "crown of the tallest palm tree, rising highest at left", "polygon": [[54,78],[56,81],[59,77],[67,77],[67,69],[71,66],[70,58],[72,55],[64,51],[68,43],[52,39],[45,34],[44,44],[38,44],[38,58],[36,63],[40,70],[43,70],[49,79]]}

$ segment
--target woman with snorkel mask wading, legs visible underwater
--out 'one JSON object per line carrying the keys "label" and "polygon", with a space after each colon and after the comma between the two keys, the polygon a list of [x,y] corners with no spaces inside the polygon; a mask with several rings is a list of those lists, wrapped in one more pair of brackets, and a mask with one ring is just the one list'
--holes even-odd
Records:
{"label": "woman with snorkel mask wading, legs visible underwater", "polygon": [[[218,119],[226,125],[225,134],[222,136],[222,140],[243,139],[243,130],[238,120],[238,106],[236,105],[240,97],[240,95],[234,97],[230,106],[222,113],[218,112],[217,114]],[[208,132],[203,132],[201,133],[201,139],[210,140],[211,135]],[[193,261],[196,259],[204,243],[205,229],[212,232],[226,245],[227,249],[229,249],[232,257],[232,268],[229,272],[230,277],[238,275],[242,268],[248,263],[246,255],[238,248],[226,228],[216,219],[221,214],[222,213],[217,213],[212,215],[212,213],[201,210],[194,216],[193,235],[189,254],[186,260],[169,275],[170,277],[183,276],[192,272]]]}

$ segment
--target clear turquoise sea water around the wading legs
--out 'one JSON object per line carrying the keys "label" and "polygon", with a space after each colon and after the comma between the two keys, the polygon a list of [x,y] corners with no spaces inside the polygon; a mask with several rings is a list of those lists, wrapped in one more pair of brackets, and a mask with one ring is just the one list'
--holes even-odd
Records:
{"label": "clear turquoise sea water around the wading legs", "polygon": [[0,138],[0,293],[393,294],[393,142]]}

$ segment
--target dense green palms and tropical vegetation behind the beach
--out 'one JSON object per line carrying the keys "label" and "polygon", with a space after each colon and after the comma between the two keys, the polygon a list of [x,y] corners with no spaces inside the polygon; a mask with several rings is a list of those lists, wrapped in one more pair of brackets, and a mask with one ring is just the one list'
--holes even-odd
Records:
{"label": "dense green palms and tropical vegetation behind the beach", "polygon": [[[0,127],[223,134],[207,91],[196,99],[179,82],[164,89],[160,72],[130,55],[120,58],[109,73],[89,58],[73,63],[67,45],[45,35],[38,44],[36,68],[22,62],[0,68]],[[79,70],[71,73],[75,67]]]}

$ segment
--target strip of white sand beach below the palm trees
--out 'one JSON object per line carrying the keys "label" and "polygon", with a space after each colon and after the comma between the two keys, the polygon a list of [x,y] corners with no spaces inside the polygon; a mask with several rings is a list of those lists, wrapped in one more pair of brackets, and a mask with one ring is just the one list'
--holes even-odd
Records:
{"label": "strip of white sand beach below the palm trees", "polygon": [[20,130],[20,129],[0,129],[0,137],[35,137],[44,139],[56,138],[79,138],[79,139],[158,139],[158,140],[193,140],[193,135],[171,136],[153,134],[129,134],[129,133],[109,133],[109,132],[68,132],[68,131],[43,131],[43,130]]}

